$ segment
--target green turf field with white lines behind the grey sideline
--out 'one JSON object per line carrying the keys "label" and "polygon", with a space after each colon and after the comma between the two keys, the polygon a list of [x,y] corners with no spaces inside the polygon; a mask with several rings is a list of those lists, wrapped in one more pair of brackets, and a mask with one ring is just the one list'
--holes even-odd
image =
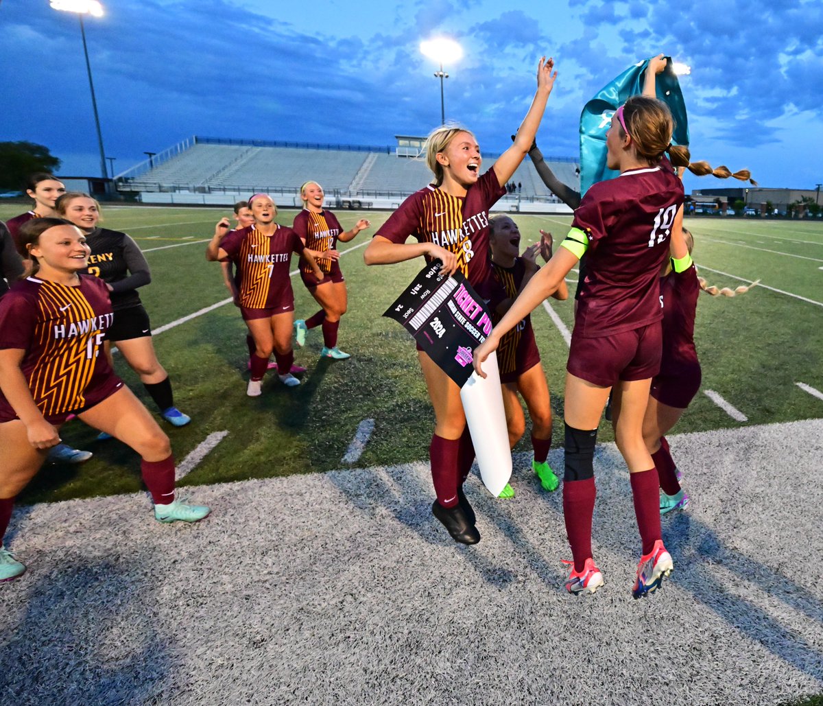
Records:
{"label": "green turf field with white lines behind the grey sideline", "polygon": [[[0,219],[22,210],[20,204],[3,204]],[[194,241],[209,238],[213,224],[229,209],[105,206],[103,210],[107,227],[133,235],[146,252],[153,281],[141,296],[154,328],[226,299],[219,267],[206,262],[205,244]],[[291,224],[294,215],[295,211],[284,210],[278,220]],[[228,431],[186,476],[184,485],[343,467],[341,459],[364,419],[374,419],[375,426],[358,467],[426,458],[433,415],[415,348],[407,332],[381,316],[423,262],[365,267],[362,245],[388,214],[341,211],[337,215],[344,227],[359,217],[373,223],[365,234],[341,246],[342,252],[351,252],[341,261],[349,311],[342,320],[339,345],[351,352],[351,360],[320,360],[322,334],[309,332],[305,348],[296,351],[296,362],[308,368],[303,384],[287,389],[270,375],[263,396],[249,398],[245,395],[245,327],[231,304],[155,337],[160,361],[174,381],[175,402],[193,417],[192,424],[182,429],[163,422],[176,458],[183,459],[208,434]],[[528,242],[536,239],[539,228],[560,238],[570,224],[570,217],[518,216],[516,220]],[[823,416],[823,401],[796,384],[823,390],[823,225],[709,218],[692,219],[687,225],[695,234],[695,261],[710,284],[733,288],[760,278],[764,286],[734,299],[702,295],[698,307],[695,337],[703,389],[718,392],[747,421],[733,420],[701,392],[677,430]],[[296,316],[307,318],[318,306],[294,279]],[[571,328],[572,302],[551,305]],[[537,309],[532,321],[553,410],[560,419],[568,348],[545,310]],[[152,409],[123,360],[117,367]],[[44,468],[21,496],[21,503],[111,495],[141,487],[137,457],[123,444],[95,441],[96,432],[78,421],[66,425],[62,434],[67,443],[94,451],[94,458],[80,467]],[[556,424],[554,445],[562,443],[561,434],[562,425]],[[610,426],[602,425],[600,439],[611,438]],[[526,446],[521,442],[522,450]]]}

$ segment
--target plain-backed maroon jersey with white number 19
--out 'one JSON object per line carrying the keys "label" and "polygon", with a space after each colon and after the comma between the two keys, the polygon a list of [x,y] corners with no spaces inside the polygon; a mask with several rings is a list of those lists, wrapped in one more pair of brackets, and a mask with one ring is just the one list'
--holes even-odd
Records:
{"label": "plain-backed maroon jersey with white number 19", "polygon": [[658,275],[682,203],[683,184],[667,160],[589,188],[572,222],[588,238],[579,336],[630,331],[663,316]]}

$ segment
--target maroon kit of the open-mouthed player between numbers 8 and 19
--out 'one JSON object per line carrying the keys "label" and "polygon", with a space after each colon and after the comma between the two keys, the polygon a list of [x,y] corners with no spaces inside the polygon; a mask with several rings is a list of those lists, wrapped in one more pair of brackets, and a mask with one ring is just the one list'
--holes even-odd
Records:
{"label": "maroon kit of the open-mouthed player between numbers 8 and 19", "polygon": [[[489,306],[494,310],[501,301],[514,299],[518,295],[526,274],[526,263],[523,258],[516,258],[513,267],[500,267],[492,262],[491,271],[494,291]],[[529,314],[500,339],[500,346],[497,347],[500,381],[511,382],[539,362],[540,353],[537,351],[532,316]]]}

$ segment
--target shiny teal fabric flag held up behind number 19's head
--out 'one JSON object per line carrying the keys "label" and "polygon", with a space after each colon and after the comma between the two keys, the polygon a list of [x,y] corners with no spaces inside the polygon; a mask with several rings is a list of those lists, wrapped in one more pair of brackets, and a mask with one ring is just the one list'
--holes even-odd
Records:
{"label": "shiny teal fabric flag held up behind number 19's head", "polygon": [[[667,57],[668,58],[668,57]],[[604,86],[592,100],[584,105],[580,114],[580,194],[598,181],[613,179],[619,174],[606,166],[606,131],[611,123],[611,116],[616,109],[632,95],[643,93],[646,67],[650,59],[638,62],[627,68],[620,76]],[[668,105],[674,117],[675,128],[672,144],[689,144],[689,123],[686,119],[686,104],[680,91],[677,74],[668,62],[663,72],[658,73],[655,81],[657,97]]]}

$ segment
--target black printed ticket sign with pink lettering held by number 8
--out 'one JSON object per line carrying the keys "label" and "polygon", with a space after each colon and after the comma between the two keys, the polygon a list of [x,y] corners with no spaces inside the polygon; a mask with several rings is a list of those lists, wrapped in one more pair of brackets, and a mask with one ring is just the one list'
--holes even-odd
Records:
{"label": "black printed ticket sign with pink lettering held by number 8", "polygon": [[439,270],[439,263],[426,265],[383,315],[406,327],[462,388],[474,372],[472,351],[491,333],[491,313],[462,272]]}

